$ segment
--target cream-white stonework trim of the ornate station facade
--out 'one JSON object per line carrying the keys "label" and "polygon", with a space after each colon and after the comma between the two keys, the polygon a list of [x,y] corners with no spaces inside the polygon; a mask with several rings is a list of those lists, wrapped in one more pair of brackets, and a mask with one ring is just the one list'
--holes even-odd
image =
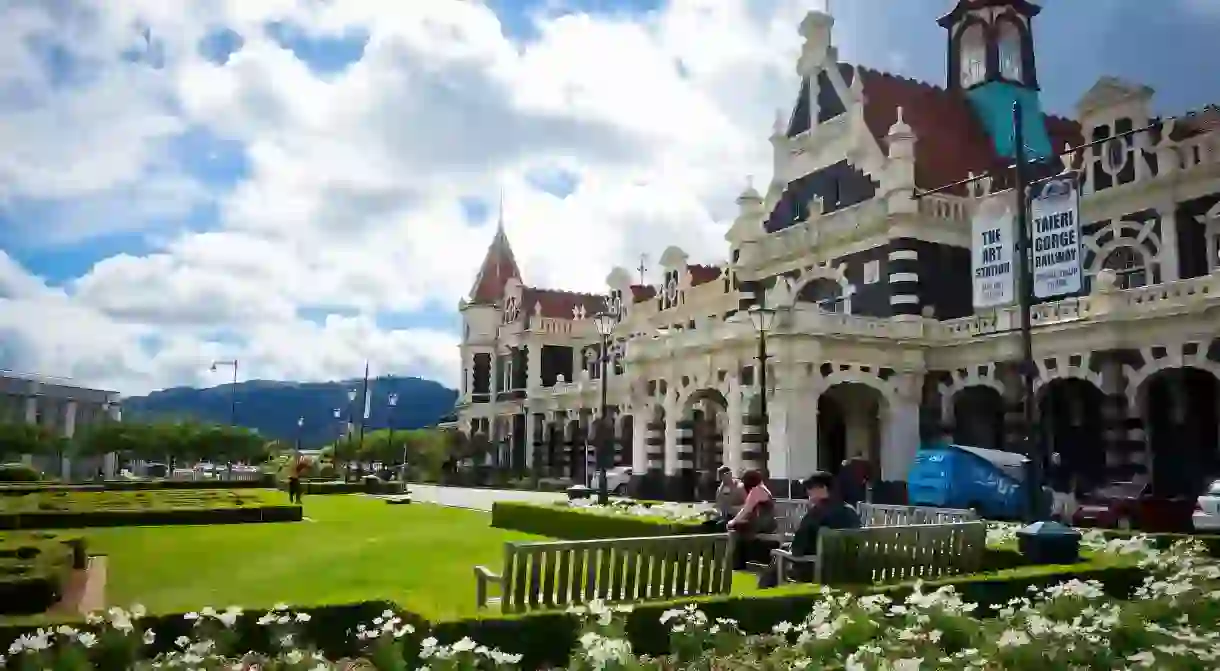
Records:
{"label": "cream-white stonework trim of the ornate station facade", "polygon": [[[908,126],[916,118],[911,110],[899,109],[884,138],[878,140],[870,131],[867,84],[859,71],[850,83],[843,81],[830,43],[832,23],[817,12],[802,23],[806,43],[798,71],[815,79],[826,72],[845,109],[838,117],[817,123],[816,105],[810,105],[814,122],[791,138],[786,134],[788,122],[778,120],[770,138],[772,179],[765,194],[748,185],[738,198],[739,212],[726,235],[730,255],[722,264],[689,266],[686,253],[670,246],[653,273],[658,285],[639,287],[634,281],[640,273],[614,268],[600,306],[595,301],[592,307],[582,304],[562,316],[543,315],[542,303],[529,316],[509,314],[521,310],[523,293],[534,290],[523,288],[520,279],[505,284],[503,304],[464,301],[460,427],[468,428],[475,418],[525,414],[529,417],[527,442],[534,436],[549,437],[550,429],[534,427],[586,421],[597,414],[600,386],[608,383],[609,405],[616,416],[631,416],[633,422],[630,431],[620,425],[619,439],[630,440],[622,459],[634,466],[637,476],[653,470],[676,477],[691,470],[691,453],[683,447],[697,436],[687,422],[702,404],[716,417],[708,431],[722,434],[716,461],[736,471],[765,466],[772,478],[799,478],[816,468],[837,468],[837,459],[863,456],[876,462],[882,479],[903,481],[921,434],[937,433],[927,426],[921,431],[921,421],[952,425],[954,399],[961,392],[989,388],[1005,404],[1019,398],[1020,379],[1013,368],[1021,353],[1016,306],[941,320],[926,293],[931,289],[920,284],[938,279],[935,266],[931,274],[927,270],[886,270],[924,262],[922,254],[909,246],[914,243],[897,246],[895,240],[967,249],[972,211],[978,199],[992,192],[992,182],[975,183],[969,196],[914,198],[916,156],[937,149],[916,146],[924,140]],[[1150,89],[1103,79],[1082,99],[1078,121],[1085,128],[1115,118],[1148,123],[1150,96]],[[1171,132],[1174,124],[1169,127]],[[1137,134],[1133,149],[1122,156],[1115,150],[1113,161],[1082,160],[1083,152],[1064,157],[1065,168],[1081,171],[1082,222],[1109,223],[1088,227],[1082,235],[1089,253],[1086,272],[1093,282],[1092,293],[1032,307],[1038,398],[1074,379],[1108,399],[1103,415],[1114,425],[1104,429],[1110,443],[1108,462],[1127,462],[1127,453],[1115,447],[1118,443],[1148,439],[1148,432],[1120,425],[1124,417],[1150,421],[1139,403],[1149,379],[1179,367],[1220,378],[1220,364],[1207,355],[1211,340],[1220,336],[1220,204],[1210,214],[1198,215],[1207,237],[1183,242],[1180,235],[1187,229],[1175,223],[1180,205],[1220,194],[1220,132],[1183,139],[1171,138],[1170,132],[1158,138]],[[875,182],[872,198],[844,207],[816,199],[804,221],[766,232],[764,222],[791,182],[844,159]],[[1122,179],[1126,182],[1115,185]],[[1103,188],[1103,182],[1109,187]],[[1193,244],[1211,250],[1202,270],[1187,267],[1180,259],[1180,250]],[[1132,254],[1113,256],[1120,249]],[[856,266],[844,261],[871,253],[876,254],[853,261]],[[1108,265],[1108,259],[1120,257],[1135,261],[1124,267]],[[865,264],[872,264],[872,272],[880,264],[881,282],[853,274]],[[838,288],[834,311],[798,300],[802,289],[815,281]],[[969,284],[969,277],[960,282]],[[880,310],[911,310],[902,316],[867,316],[861,309],[863,292],[891,284],[897,287],[877,299],[883,305]],[[778,311],[767,334],[765,390],[759,389],[759,336],[742,311],[760,299]],[[603,376],[593,370],[597,356],[590,366],[582,351],[598,346],[593,316],[606,306],[619,316],[612,340],[620,348],[616,360],[621,372],[611,367],[611,375]],[[1190,354],[1183,354],[1185,343],[1194,343]],[[554,365],[543,353],[547,345],[571,348],[570,377],[544,383],[543,370]],[[473,356],[506,356],[512,348],[528,351],[525,388],[504,398],[505,389],[493,383],[489,396],[476,400]],[[1130,353],[1142,364],[1127,362],[1115,353]],[[756,461],[750,450],[762,443],[750,417],[759,414],[761,393],[769,401],[769,439],[764,461]],[[695,395],[700,404],[687,403]],[[712,409],[709,404],[719,405],[719,399],[723,399],[723,407]],[[1125,407],[1111,406],[1109,399],[1125,399]],[[833,421],[844,427],[839,432],[844,437],[834,438],[838,447],[833,450],[819,445],[838,436],[838,429],[820,428],[820,414],[825,412],[836,412]],[[1002,412],[1019,415],[1010,406]],[[1215,422],[1215,417],[1209,421]],[[1006,431],[997,427],[1000,429]],[[561,438],[569,431],[564,426],[555,436]],[[659,444],[645,444],[650,439]],[[1220,450],[1218,445],[1205,448]],[[531,454],[526,464],[534,466],[534,445],[526,451]],[[1143,451],[1139,456],[1132,453],[1131,462],[1148,462]]]}

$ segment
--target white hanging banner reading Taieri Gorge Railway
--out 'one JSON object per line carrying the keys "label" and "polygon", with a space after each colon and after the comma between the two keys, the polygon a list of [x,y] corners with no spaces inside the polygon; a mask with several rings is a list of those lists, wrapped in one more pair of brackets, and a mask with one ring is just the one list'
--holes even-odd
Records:
{"label": "white hanging banner reading Taieri Gorge Railway", "polygon": [[1080,249],[1080,189],[1075,174],[1053,177],[1033,187],[1030,201],[1030,256],[1033,295],[1054,298],[1083,285]]}

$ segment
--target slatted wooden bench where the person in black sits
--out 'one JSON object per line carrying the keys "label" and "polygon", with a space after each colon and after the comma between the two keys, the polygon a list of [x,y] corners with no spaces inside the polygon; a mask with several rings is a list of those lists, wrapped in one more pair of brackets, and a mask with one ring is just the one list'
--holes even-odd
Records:
{"label": "slatted wooden bench where the person in black sits", "polygon": [[936,580],[982,570],[987,526],[975,520],[942,525],[821,529],[815,556],[772,550],[780,583],[795,565],[810,567],[819,584],[872,584]]}

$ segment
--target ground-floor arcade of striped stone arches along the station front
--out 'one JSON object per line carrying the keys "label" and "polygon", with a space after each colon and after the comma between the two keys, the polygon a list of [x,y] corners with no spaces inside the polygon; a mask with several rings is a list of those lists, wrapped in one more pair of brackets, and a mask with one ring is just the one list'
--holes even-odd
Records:
{"label": "ground-floor arcade of striped stone arches along the station front", "polygon": [[[1057,488],[1147,478],[1163,495],[1192,495],[1220,477],[1220,365],[1141,366],[1127,376],[1085,368],[1043,375],[1037,390],[1035,436]],[[715,471],[759,468],[782,492],[815,470],[837,472],[850,459],[867,461],[880,479],[905,479],[919,440],[941,437],[991,449],[1019,445],[1022,412],[1015,378],[988,376],[941,389],[937,400],[893,396],[876,376],[824,378],[811,388],[777,389],[770,398],[762,439],[756,395],[747,387],[697,388],[664,394],[638,407],[611,407],[614,464],[636,476],[655,476],[654,495],[677,499],[711,494]],[[925,387],[926,389],[926,387]],[[899,399],[898,411],[892,407]],[[941,422],[920,420],[920,405],[937,406]],[[915,417],[905,415],[915,405]],[[908,426],[914,421],[914,431]],[[592,410],[566,410],[529,421],[527,461],[551,477],[587,479],[595,467],[600,426]],[[928,429],[928,426],[932,428]],[[514,444],[522,427],[510,427]],[[939,432],[939,433],[938,433]],[[521,432],[525,433],[525,432]],[[521,436],[523,438],[523,436]],[[523,447],[523,445],[522,445]],[[581,454],[587,456],[581,458]],[[533,466],[531,466],[533,467]],[[791,479],[786,475],[791,473]]]}

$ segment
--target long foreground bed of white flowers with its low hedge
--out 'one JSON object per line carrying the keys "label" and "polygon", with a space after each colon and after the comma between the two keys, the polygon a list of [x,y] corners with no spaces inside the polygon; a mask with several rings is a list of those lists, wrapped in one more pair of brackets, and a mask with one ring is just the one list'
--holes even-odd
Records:
{"label": "long foreground bed of white flowers with its low hedge", "polygon": [[[1115,599],[1099,581],[1059,580],[982,608],[960,584],[916,583],[883,593],[814,588],[804,609],[773,622],[734,619],[715,601],[634,610],[594,603],[566,614],[481,620],[477,630],[471,622],[428,628],[409,615],[371,612],[373,604],[307,614],[287,606],[203,610],[174,619],[146,619],[134,608],[111,609],[78,627],[28,632],[7,655],[11,669],[66,670],[350,669],[350,660],[339,659],[348,655],[387,670],[1215,669],[1220,565],[1185,543],[1138,554],[1148,576],[1131,588],[1132,600]],[[345,617],[365,623],[346,625]],[[560,626],[566,636],[556,642]],[[339,634],[345,631],[350,636]]]}

